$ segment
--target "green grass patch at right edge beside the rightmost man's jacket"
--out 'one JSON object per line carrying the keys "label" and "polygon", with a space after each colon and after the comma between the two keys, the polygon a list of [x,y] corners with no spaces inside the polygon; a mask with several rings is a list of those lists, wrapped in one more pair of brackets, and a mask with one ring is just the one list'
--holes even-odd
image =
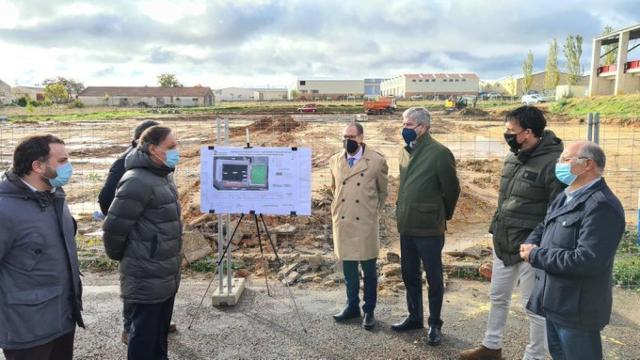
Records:
{"label": "green grass patch at right edge beside the rightmost man's jacket", "polygon": [[613,263],[613,280],[624,288],[640,290],[640,246],[638,232],[626,231]]}

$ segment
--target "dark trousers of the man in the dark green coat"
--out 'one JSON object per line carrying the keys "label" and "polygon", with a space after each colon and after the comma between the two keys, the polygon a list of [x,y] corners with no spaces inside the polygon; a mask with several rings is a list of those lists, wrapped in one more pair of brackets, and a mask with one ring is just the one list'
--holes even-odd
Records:
{"label": "dark trousers of the man in the dark green coat", "polygon": [[444,297],[444,279],[442,277],[442,248],[444,235],[406,236],[400,235],[400,256],[402,280],[407,288],[407,308],[409,316],[424,323],[422,309],[422,272],[420,260],[427,272],[429,284],[429,326],[442,327],[440,313]]}

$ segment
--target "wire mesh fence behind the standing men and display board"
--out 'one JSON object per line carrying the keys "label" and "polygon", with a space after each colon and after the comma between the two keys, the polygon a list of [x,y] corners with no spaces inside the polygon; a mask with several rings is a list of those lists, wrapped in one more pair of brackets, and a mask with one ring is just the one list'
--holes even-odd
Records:
{"label": "wire mesh fence behind the standing men and display board", "polygon": [[[341,148],[341,131],[354,115],[230,115],[231,145],[244,146],[245,128],[250,130],[254,146],[308,146],[313,150],[314,198],[323,196],[330,184],[328,159]],[[185,212],[199,210],[199,148],[213,144],[216,138],[216,118],[212,116],[165,117],[158,119],[171,127],[180,143],[181,164],[175,181],[183,197],[193,201],[183,204]],[[67,143],[74,164],[74,176],[65,188],[72,213],[85,224],[79,247],[96,246],[100,226],[92,221],[99,211],[97,196],[106,178],[110,164],[131,142],[132,131],[138,120],[0,123],[0,167],[6,169],[12,161],[17,143],[32,134],[52,133]],[[598,140],[607,155],[605,178],[622,201],[628,228],[637,232],[638,191],[640,189],[640,127],[607,122],[601,119],[596,126],[582,121],[553,122],[548,129],[571,142],[589,136]],[[401,147],[400,115],[370,117],[363,123],[365,142],[383,153],[390,168],[391,194],[387,205],[393,213],[397,186],[398,154]],[[433,114],[433,136],[448,146],[458,162],[459,177],[463,184],[460,205],[450,224],[447,246],[464,248],[475,243],[490,243],[488,223],[495,211],[502,160],[508,149],[503,139],[504,123],[487,116],[451,116]],[[590,135],[591,134],[591,135]],[[184,199],[183,199],[184,200]],[[390,216],[392,217],[392,216]],[[328,220],[330,221],[330,220]],[[393,232],[394,224],[386,230]],[[449,240],[451,239],[451,240]],[[629,254],[636,251],[625,247]],[[634,250],[635,249],[635,250]],[[631,260],[630,260],[631,261]],[[634,281],[640,281],[635,279]],[[631,280],[629,281],[631,282]]]}

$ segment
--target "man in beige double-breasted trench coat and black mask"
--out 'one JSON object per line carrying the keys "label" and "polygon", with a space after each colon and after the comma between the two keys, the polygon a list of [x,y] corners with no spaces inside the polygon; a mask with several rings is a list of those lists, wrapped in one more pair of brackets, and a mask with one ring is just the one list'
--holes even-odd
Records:
{"label": "man in beige double-breasted trench coat and black mask", "polygon": [[350,123],[343,132],[344,150],[329,160],[333,246],[342,261],[347,288],[347,306],[333,317],[338,322],[360,317],[360,263],[364,274],[362,327],[371,330],[378,287],[378,210],[387,197],[389,168],[384,157],[363,141],[362,125]]}

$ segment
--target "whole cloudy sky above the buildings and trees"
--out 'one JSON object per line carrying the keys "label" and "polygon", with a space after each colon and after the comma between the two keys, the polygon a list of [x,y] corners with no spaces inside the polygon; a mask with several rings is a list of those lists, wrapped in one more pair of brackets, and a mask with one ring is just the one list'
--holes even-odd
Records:
{"label": "whole cloudy sky above the buildings and trees", "polygon": [[[0,79],[33,86],[291,87],[296,79],[522,73],[531,50],[640,23],[638,0],[0,0]],[[640,59],[640,50],[630,54]]]}

